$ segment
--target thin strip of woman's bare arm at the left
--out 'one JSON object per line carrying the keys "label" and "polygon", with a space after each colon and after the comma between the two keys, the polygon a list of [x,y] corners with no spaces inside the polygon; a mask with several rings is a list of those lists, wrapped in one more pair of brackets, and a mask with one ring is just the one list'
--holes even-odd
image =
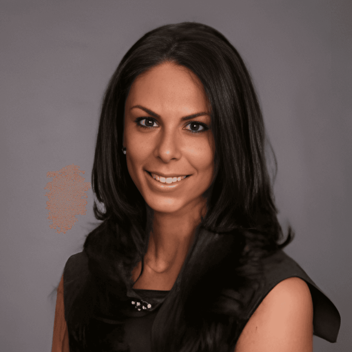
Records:
{"label": "thin strip of woman's bare arm at the left", "polygon": [[51,352],[70,352],[68,344],[68,331],[64,310],[64,277],[61,277],[57,288],[55,307],[54,334],[52,336]]}

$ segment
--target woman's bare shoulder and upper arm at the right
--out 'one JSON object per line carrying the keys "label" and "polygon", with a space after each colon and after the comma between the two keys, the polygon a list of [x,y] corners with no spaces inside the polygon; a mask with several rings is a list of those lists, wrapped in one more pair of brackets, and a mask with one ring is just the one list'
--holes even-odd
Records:
{"label": "woman's bare shoulder and upper arm at the right", "polygon": [[235,352],[312,351],[313,302],[307,283],[289,277],[275,285],[246,323]]}

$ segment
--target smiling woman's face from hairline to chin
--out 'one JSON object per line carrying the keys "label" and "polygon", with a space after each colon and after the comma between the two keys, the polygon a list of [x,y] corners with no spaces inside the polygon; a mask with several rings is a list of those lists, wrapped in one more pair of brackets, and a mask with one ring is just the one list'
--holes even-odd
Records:
{"label": "smiling woman's face from hairline to chin", "polygon": [[155,211],[174,213],[204,202],[201,195],[214,177],[210,123],[203,85],[189,69],[163,63],[133,82],[125,105],[127,167]]}

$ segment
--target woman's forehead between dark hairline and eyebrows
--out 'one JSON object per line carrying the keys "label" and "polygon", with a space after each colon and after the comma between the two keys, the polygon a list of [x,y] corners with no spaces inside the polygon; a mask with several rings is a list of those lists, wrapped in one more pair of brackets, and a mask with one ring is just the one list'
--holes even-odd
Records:
{"label": "woman's forehead between dark hairline and eyebrows", "polygon": [[127,106],[143,105],[152,110],[178,109],[181,113],[207,109],[203,84],[188,68],[163,63],[134,80]]}

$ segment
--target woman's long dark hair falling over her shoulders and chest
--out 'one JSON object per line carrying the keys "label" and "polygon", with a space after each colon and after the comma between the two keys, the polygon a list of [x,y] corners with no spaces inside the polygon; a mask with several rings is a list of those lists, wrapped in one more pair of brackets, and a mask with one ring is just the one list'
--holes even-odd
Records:
{"label": "woman's long dark hair falling over her shoulders and chest", "polygon": [[[163,62],[187,67],[205,88],[212,111],[217,172],[207,191],[207,213],[199,225],[211,239],[211,251],[208,241],[199,252],[209,260],[184,264],[187,270],[181,272],[177,290],[170,291],[171,298],[162,307],[168,312],[167,319],[161,315],[155,322],[153,351],[227,351],[230,332],[226,327],[231,325],[234,331],[246,307],[233,293],[244,285],[253,291],[260,282],[258,259],[293,239],[289,226],[287,239],[279,244],[283,233],[267,167],[264,121],[250,74],[237,50],[220,32],[200,23],[165,25],[146,33],[122,58],[102,102],[92,170],[93,191],[104,206],[101,210],[94,202],[93,210],[102,222],[84,242],[89,279],[67,315],[70,337],[84,351],[94,351],[100,341],[94,339],[94,331],[88,333],[92,316],[122,316],[121,304],[133,285],[131,271],[146,253],[152,209],[132,181],[121,151],[124,109],[136,77]],[[231,266],[237,286],[227,287],[226,276],[219,276],[216,270],[221,261]],[[213,286],[219,290],[206,295],[209,277],[217,278]],[[202,312],[192,311],[189,304],[196,288],[203,290],[203,300],[213,302]]]}

